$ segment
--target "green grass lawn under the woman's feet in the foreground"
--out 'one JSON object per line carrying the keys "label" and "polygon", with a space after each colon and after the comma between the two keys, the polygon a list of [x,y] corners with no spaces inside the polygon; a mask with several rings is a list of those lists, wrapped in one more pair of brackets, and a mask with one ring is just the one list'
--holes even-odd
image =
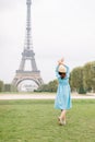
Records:
{"label": "green grass lawn under the woman's feet in the foreground", "polygon": [[73,100],[59,126],[54,100],[0,100],[0,142],[95,142],[95,99]]}

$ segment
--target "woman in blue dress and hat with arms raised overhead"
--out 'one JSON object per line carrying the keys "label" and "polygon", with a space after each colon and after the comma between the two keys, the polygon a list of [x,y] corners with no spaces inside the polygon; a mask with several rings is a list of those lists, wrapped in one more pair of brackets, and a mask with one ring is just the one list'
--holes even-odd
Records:
{"label": "woman in blue dress and hat with arms raised overhead", "polygon": [[67,109],[71,108],[72,104],[69,84],[70,71],[69,67],[63,63],[63,58],[58,61],[56,75],[58,79],[58,90],[55,99],[55,108],[61,110],[61,114],[58,117],[59,125],[66,125],[66,113]]}

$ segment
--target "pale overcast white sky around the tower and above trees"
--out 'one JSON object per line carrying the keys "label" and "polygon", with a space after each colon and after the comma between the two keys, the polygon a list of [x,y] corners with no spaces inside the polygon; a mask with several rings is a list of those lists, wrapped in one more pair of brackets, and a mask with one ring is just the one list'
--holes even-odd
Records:
{"label": "pale overcast white sky around the tower and above trees", "polygon": [[[26,0],[0,0],[0,80],[11,83],[22,58]],[[73,68],[95,61],[95,0],[33,0],[35,60],[45,83],[60,58]]]}

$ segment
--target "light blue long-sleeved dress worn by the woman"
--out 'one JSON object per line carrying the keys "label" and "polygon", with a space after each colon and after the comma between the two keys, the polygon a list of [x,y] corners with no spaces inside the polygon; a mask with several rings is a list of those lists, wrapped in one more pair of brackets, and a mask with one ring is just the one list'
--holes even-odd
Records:
{"label": "light blue long-sleeved dress worn by the woman", "polygon": [[70,84],[69,84],[69,76],[70,76],[70,71],[69,67],[66,66],[67,68],[67,74],[64,79],[61,79],[61,76],[58,73],[58,68],[56,68],[56,75],[58,79],[58,90],[57,90],[57,96],[55,99],[55,108],[57,109],[70,109],[72,106],[71,103],[71,91],[70,91]]}

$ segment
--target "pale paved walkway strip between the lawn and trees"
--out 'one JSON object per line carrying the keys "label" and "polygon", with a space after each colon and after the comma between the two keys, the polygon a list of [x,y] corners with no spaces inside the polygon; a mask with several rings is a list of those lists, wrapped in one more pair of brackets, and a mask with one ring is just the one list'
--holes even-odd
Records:
{"label": "pale paved walkway strip between the lawn and trees", "polygon": [[[55,99],[56,95],[49,94],[49,95],[43,95],[43,94],[3,94],[0,95],[0,99]],[[72,99],[95,99],[95,94],[94,95],[72,95]]]}

